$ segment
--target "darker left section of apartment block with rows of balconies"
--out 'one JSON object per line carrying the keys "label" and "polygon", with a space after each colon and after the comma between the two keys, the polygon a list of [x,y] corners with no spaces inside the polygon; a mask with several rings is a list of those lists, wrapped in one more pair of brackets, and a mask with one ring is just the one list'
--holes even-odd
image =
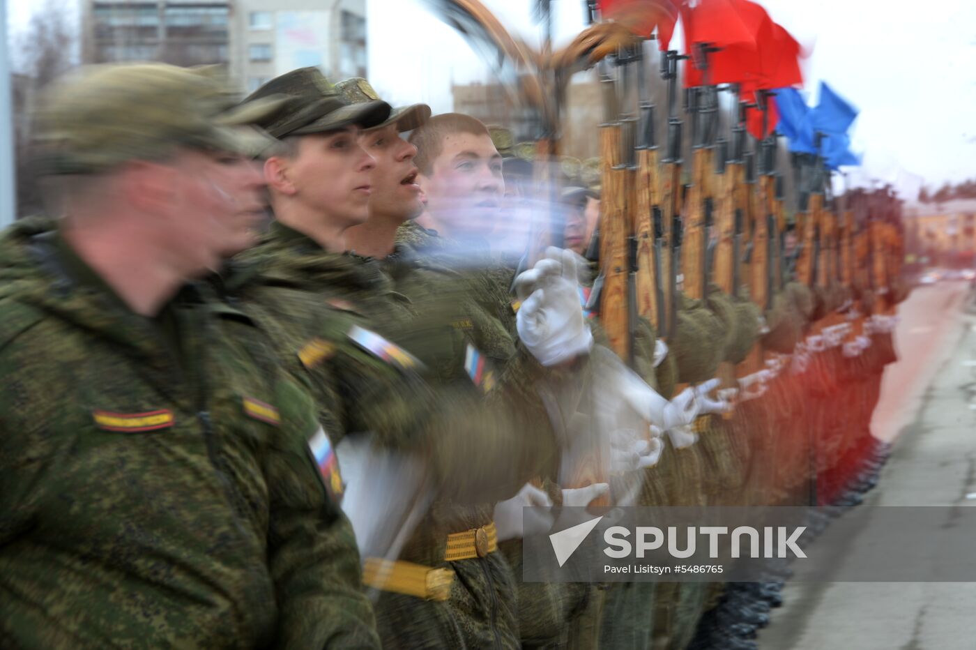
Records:
{"label": "darker left section of apartment block with rows of balconies", "polygon": [[87,0],[82,59],[226,63],[230,0]]}

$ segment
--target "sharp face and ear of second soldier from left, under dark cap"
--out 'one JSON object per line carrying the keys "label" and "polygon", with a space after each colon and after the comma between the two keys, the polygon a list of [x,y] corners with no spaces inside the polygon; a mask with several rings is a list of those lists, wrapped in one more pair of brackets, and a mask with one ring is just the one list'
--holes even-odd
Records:
{"label": "sharp face and ear of second soldier from left, under dark cap", "polygon": [[298,153],[268,160],[264,176],[270,175],[274,190],[294,199],[304,213],[339,226],[363,223],[369,216],[375,162],[360,145],[358,132],[350,127],[302,136]]}

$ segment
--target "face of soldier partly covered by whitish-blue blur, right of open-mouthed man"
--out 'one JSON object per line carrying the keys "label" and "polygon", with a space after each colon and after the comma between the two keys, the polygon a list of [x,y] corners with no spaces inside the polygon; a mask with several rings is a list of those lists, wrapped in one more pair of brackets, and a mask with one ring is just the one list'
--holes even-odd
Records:
{"label": "face of soldier partly covered by whitish-blue blur, right of open-mouthed man", "polygon": [[419,182],[427,210],[448,236],[491,233],[502,210],[502,156],[488,135],[444,137],[429,177]]}

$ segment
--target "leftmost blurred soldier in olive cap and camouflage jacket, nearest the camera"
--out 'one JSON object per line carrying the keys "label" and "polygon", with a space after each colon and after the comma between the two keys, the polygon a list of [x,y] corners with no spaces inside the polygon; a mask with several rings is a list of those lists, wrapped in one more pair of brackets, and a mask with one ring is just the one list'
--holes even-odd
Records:
{"label": "leftmost blurred soldier in olive cap and camouflage jacket, nearest the camera", "polygon": [[378,647],[322,429],[263,332],[188,283],[264,182],[206,72],[83,68],[41,115],[61,222],[0,240],[0,635],[21,648]]}

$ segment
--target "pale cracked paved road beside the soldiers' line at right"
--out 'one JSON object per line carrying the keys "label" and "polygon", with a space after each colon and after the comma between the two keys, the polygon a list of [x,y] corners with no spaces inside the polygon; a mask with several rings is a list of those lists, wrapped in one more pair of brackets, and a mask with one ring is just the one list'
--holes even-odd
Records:
{"label": "pale cracked paved road beside the soldiers' line at right", "polygon": [[[895,449],[867,505],[976,506],[976,316],[967,286],[916,289],[902,305],[874,435]],[[976,542],[974,542],[976,552]],[[762,650],[972,650],[976,584],[788,584]]]}

